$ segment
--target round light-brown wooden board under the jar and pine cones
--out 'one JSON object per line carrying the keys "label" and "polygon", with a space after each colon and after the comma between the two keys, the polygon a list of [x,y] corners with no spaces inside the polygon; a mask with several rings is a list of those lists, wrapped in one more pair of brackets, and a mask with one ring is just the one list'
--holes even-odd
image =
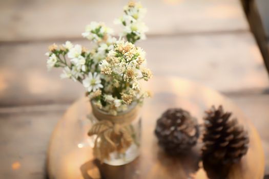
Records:
{"label": "round light-brown wooden board under the jar and pine cones", "polygon": [[[263,178],[264,153],[259,135],[242,111],[218,92],[181,78],[167,77],[151,80],[143,85],[154,97],[146,100],[142,109],[142,145],[140,156],[130,164],[109,166],[100,164],[87,146],[90,128],[87,114],[91,108],[87,98],[71,105],[59,120],[52,134],[48,149],[48,175],[50,178],[208,178],[214,168],[204,170],[197,153],[184,156],[168,156],[157,145],[154,135],[156,119],[170,107],[187,109],[202,123],[204,110],[212,105],[222,105],[232,111],[249,131],[250,147],[240,163],[229,170],[229,178]],[[194,149],[194,150],[195,150]],[[220,176],[221,178],[221,176]]]}

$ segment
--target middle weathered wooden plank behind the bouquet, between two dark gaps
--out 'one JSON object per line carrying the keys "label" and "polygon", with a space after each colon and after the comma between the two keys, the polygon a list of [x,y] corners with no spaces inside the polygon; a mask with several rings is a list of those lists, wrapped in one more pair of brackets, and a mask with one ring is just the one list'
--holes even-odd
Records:
{"label": "middle weathered wooden plank behind the bouquet, between two dark gaps", "polygon": [[[1,106],[66,103],[84,92],[79,83],[60,80],[61,70],[47,72],[44,54],[49,44],[0,46]],[[248,32],[152,37],[139,46],[147,52],[155,76],[185,77],[225,93],[269,86],[262,57]]]}

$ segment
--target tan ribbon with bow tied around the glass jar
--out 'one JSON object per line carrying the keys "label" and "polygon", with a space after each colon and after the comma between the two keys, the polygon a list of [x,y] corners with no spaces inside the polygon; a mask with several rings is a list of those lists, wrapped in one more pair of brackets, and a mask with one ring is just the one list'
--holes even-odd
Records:
{"label": "tan ribbon with bow tied around the glass jar", "polygon": [[117,116],[108,115],[92,105],[93,115],[98,122],[93,124],[88,135],[96,135],[93,154],[103,162],[110,159],[111,152],[124,153],[134,142],[131,122],[138,115],[138,106]]}

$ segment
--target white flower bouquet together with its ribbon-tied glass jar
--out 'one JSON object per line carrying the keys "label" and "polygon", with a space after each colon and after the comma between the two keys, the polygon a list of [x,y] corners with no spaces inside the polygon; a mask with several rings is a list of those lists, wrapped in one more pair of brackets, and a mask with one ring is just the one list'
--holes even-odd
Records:
{"label": "white flower bouquet together with its ribbon-tied glass jar", "polygon": [[103,23],[92,22],[82,36],[94,48],[66,41],[53,44],[46,54],[47,67],[63,68],[61,78],[80,82],[92,106],[88,132],[97,159],[110,165],[131,162],[139,154],[141,119],[139,104],[150,97],[143,92],[140,80],[148,81],[152,72],[146,68],[145,52],[135,42],[145,39],[148,30],[141,21],[146,10],[130,2],[124,14],[115,20],[123,26],[119,38]]}

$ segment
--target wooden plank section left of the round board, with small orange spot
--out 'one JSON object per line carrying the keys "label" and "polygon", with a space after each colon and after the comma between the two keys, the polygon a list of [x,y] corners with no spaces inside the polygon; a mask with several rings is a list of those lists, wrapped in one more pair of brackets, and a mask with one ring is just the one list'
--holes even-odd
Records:
{"label": "wooden plank section left of the round board, with small orange spot", "polygon": [[[63,111],[0,114],[0,178],[44,178],[46,150]],[[19,168],[12,168],[13,164]]]}

